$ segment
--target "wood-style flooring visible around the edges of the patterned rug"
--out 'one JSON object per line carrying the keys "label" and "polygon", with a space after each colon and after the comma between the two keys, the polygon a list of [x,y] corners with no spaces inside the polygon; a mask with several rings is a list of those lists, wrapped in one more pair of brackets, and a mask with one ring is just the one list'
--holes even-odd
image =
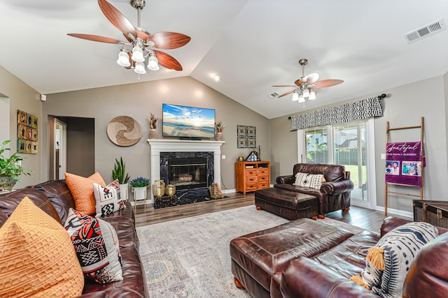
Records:
{"label": "wood-style flooring visible around the edges of the patterned rug", "polygon": [[[151,204],[146,204],[146,207],[139,205],[135,207],[136,225],[137,227],[153,225],[164,221],[173,221],[174,219],[250,205],[253,205],[255,208],[253,193],[246,193],[246,195],[242,193],[226,193],[225,195],[229,198],[160,209],[154,209]],[[379,232],[381,223],[385,218],[384,212],[382,211],[374,211],[356,206],[351,206],[349,212],[334,211],[325,216],[373,232]],[[412,220],[412,218],[406,219]]]}

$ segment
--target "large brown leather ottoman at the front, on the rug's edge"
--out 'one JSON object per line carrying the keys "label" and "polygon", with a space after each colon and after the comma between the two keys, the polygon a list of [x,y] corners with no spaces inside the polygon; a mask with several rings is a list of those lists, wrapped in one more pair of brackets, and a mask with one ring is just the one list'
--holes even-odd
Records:
{"label": "large brown leather ottoman at the front, on the rug's edge", "polygon": [[235,283],[253,297],[269,297],[270,292],[279,292],[278,282],[271,285],[272,276],[281,273],[290,260],[311,258],[351,236],[346,230],[300,218],[232,239],[230,257]]}

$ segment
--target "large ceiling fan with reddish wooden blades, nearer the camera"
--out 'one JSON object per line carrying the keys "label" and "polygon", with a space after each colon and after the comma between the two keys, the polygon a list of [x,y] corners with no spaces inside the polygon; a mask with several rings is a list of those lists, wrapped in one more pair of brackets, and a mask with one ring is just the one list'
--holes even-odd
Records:
{"label": "large ceiling fan with reddish wooden blades, nearer the camera", "polygon": [[[69,36],[99,43],[116,43],[123,45],[118,54],[117,63],[125,68],[134,68],[136,73],[146,73],[144,61],[148,57],[148,68],[158,70],[159,64],[172,70],[182,70],[182,66],[170,54],[160,50],[172,50],[183,47],[190,41],[190,36],[176,32],[148,33],[140,27],[140,12],[145,7],[145,0],[131,0],[131,6],[137,9],[137,27],[127,20],[123,13],[106,0],[98,0],[99,8],[106,18],[125,36],[125,41],[116,38],[97,36],[92,34],[68,33]],[[127,49],[126,47],[131,47]]]}

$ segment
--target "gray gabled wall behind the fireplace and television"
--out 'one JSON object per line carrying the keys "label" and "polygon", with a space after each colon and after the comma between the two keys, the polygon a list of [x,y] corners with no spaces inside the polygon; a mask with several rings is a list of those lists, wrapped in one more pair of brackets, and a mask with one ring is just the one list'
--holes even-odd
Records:
{"label": "gray gabled wall behind the fireplace and television", "polygon": [[[110,180],[115,158],[123,156],[132,177],[150,177],[146,114],[153,112],[159,117],[157,130],[159,139],[162,138],[162,103],[216,110],[216,121],[222,121],[225,126],[225,144],[221,147],[222,154],[226,156],[225,160],[221,160],[221,184],[224,189],[235,188],[235,161],[238,156],[246,157],[251,151],[237,149],[237,125],[255,126],[257,147],[261,147],[262,158],[272,155],[268,119],[191,77],[49,94],[43,103],[43,125],[47,124],[48,115],[94,118],[94,170],[102,174],[105,180]],[[107,124],[120,115],[133,117],[141,125],[142,137],[134,146],[118,147],[107,137]],[[48,142],[48,133],[42,137]],[[46,156],[43,159],[46,178],[49,177],[48,161]]]}

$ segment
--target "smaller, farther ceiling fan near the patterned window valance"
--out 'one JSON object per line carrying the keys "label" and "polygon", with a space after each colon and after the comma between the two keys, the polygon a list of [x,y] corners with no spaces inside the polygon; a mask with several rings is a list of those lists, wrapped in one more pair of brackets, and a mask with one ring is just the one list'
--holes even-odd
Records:
{"label": "smaller, farther ceiling fan near the patterned window valance", "polygon": [[321,80],[318,73],[304,74],[305,65],[308,64],[307,59],[300,59],[299,64],[302,66],[302,77],[295,80],[293,85],[274,85],[272,87],[293,87],[293,90],[280,94],[278,97],[283,97],[288,94],[293,94],[293,100],[298,100],[299,103],[304,103],[306,100],[316,99],[317,89],[332,87],[344,82],[343,80]]}

